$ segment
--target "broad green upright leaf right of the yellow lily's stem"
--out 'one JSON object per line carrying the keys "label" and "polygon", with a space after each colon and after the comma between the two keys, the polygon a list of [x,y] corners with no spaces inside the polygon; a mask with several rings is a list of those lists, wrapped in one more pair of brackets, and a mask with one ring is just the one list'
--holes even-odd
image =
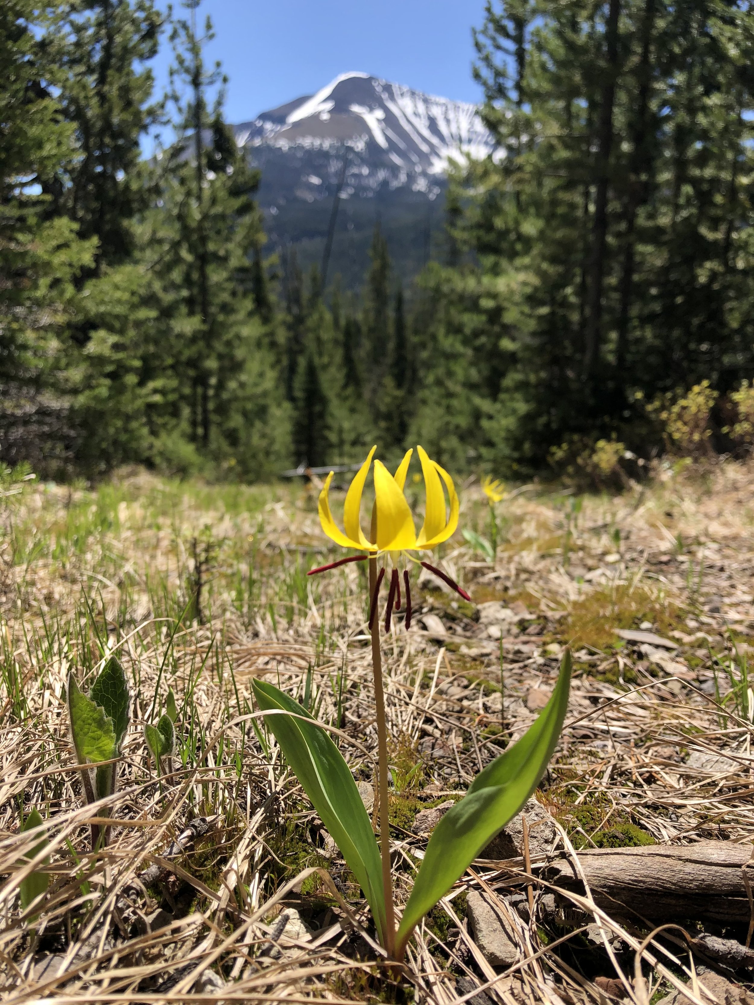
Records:
{"label": "broad green upright leaf right of the yellow lily's stem", "polygon": [[521,740],[475,778],[434,828],[398,929],[398,954],[414,926],[463,875],[537,788],[563,728],[571,681],[566,650],[555,690]]}

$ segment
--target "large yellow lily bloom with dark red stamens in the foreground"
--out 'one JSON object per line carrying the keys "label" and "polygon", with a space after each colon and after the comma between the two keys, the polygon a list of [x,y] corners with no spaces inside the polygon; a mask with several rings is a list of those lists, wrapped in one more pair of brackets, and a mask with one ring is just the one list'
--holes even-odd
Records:
{"label": "large yellow lily bloom with dark red stamens in the foreground", "polygon": [[[401,553],[431,551],[437,545],[442,544],[452,537],[458,526],[458,495],[455,491],[453,480],[447,471],[432,460],[423,449],[417,447],[417,453],[421,462],[421,471],[424,477],[426,490],[426,504],[424,508],[424,522],[419,533],[411,514],[411,508],[404,495],[403,489],[406,483],[408,465],[413,454],[413,449],[407,450],[403,460],[398,465],[395,474],[391,474],[381,460],[374,460],[374,494],[375,494],[375,516],[376,516],[376,541],[370,542],[361,527],[361,499],[364,493],[369,468],[372,466],[376,446],[369,451],[369,455],[359,468],[355,478],[351,482],[346,492],[346,501],[343,507],[343,530],[341,530],[333,518],[330,509],[330,484],[333,480],[334,472],[327,476],[322,491],[320,492],[320,523],[325,534],[337,545],[343,548],[357,548],[366,552],[366,555],[354,555],[339,562],[322,566],[320,569],[312,569],[309,575],[325,572],[337,566],[345,565],[347,562],[363,562],[367,558],[377,558],[383,555],[391,555],[393,562]],[[445,505],[445,492],[447,490],[448,509]],[[449,512],[448,512],[449,511]],[[409,556],[410,558],[411,556]],[[416,560],[413,560],[416,561]],[[464,599],[469,599],[468,594],[446,576],[445,573],[430,566],[427,562],[420,564],[430,572],[439,576],[449,586],[456,590]],[[380,571],[378,586],[372,598],[373,607],[376,605],[379,585],[384,577],[385,570]],[[410,624],[410,593],[408,587],[408,573],[404,570],[403,580],[406,590],[406,627]],[[396,610],[400,607],[400,584],[398,581],[398,571],[393,568],[390,583],[390,594],[388,597],[388,611],[386,627],[390,625],[390,614],[392,604],[395,601]],[[374,617],[374,610],[370,615],[370,624]]]}

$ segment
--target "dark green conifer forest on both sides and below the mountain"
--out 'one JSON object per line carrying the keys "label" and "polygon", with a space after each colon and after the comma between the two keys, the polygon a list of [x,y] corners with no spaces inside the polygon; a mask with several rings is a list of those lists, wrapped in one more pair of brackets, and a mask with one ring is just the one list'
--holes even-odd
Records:
{"label": "dark green conifer forest on both sides and below the mountain", "polygon": [[689,401],[710,448],[746,445],[748,3],[489,0],[497,151],[453,169],[410,284],[375,229],[358,294],[266,246],[198,6],[0,6],[5,463],[252,480],[418,441],[455,470],[609,474]]}

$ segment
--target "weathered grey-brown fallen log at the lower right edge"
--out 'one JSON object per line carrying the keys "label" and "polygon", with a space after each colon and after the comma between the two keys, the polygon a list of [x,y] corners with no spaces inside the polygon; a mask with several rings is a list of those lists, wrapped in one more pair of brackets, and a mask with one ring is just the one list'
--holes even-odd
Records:
{"label": "weathered grey-brown fallen log at the lower right edge", "polygon": [[[595,903],[613,917],[729,925],[748,924],[752,917],[742,871],[751,856],[750,844],[730,841],[578,853]],[[540,875],[562,889],[584,891],[572,859],[566,856],[548,863]],[[747,876],[754,886],[754,862]]]}

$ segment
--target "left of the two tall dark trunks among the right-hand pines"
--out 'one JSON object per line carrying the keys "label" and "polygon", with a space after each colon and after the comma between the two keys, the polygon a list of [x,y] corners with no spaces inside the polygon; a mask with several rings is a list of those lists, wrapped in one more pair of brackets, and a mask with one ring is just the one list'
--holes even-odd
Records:
{"label": "left of the two tall dark trunks among the right-hand pines", "polygon": [[610,0],[605,25],[607,64],[602,86],[599,121],[597,123],[597,163],[594,195],[594,222],[592,225],[591,254],[589,256],[589,295],[584,349],[583,374],[593,380],[599,360],[602,325],[602,285],[604,259],[607,247],[607,196],[609,190],[610,153],[613,141],[612,112],[615,103],[615,79],[618,68],[618,18],[620,0]]}

